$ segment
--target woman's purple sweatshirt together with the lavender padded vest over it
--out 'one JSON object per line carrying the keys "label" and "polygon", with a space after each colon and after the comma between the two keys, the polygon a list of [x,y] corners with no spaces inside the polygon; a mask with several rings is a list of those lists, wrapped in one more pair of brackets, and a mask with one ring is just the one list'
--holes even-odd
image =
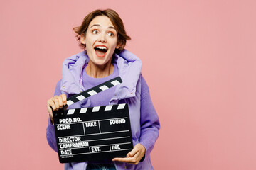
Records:
{"label": "woman's purple sweatshirt together with the lavender padded vest over it", "polygon": [[[82,58],[82,62],[81,60],[79,61],[79,59]],[[160,125],[159,118],[156,114],[156,111],[154,109],[153,103],[149,95],[149,87],[147,86],[146,81],[142,77],[142,74],[140,74],[141,65],[139,68],[137,68],[138,65],[141,64],[139,58],[132,55],[132,53],[128,52],[127,50],[124,50],[119,55],[115,54],[115,60],[113,62],[114,72],[110,74],[110,76],[104,78],[92,78],[86,74],[85,67],[87,65],[88,59],[85,52],[80,52],[77,55],[73,55],[72,57],[68,58],[67,60],[70,60],[71,62],[67,62],[65,60],[65,62],[68,64],[65,64],[64,62],[63,69],[67,69],[68,66],[70,73],[72,73],[70,75],[74,75],[74,72],[78,74],[77,68],[72,68],[75,65],[74,59],[75,64],[77,64],[77,66],[75,67],[80,68],[78,69],[80,70],[80,74],[78,75],[79,78],[74,77],[74,79],[77,79],[76,82],[74,81],[75,83],[77,83],[74,89],[78,87],[80,88],[80,91],[85,91],[86,89],[90,89],[92,86],[102,84],[103,82],[113,79],[117,76],[120,76],[122,78],[123,86],[112,87],[106,91],[102,91],[99,94],[90,96],[90,99],[88,99],[87,101],[75,103],[76,105],[73,104],[73,106],[69,106],[68,108],[94,107],[106,106],[109,104],[117,103],[128,103],[129,111],[131,112],[130,118],[132,126],[131,128],[133,144],[136,145],[137,143],[141,143],[146,148],[146,155],[144,161],[140,162],[136,166],[133,164],[126,164],[123,162],[114,162],[114,165],[116,166],[116,169],[153,169],[153,167],[151,166],[149,154],[151,152],[151,149],[153,149],[154,142],[156,142],[156,139],[159,135]],[[137,63],[134,64],[134,62]],[[132,69],[132,64],[134,64],[133,67],[137,68],[137,70]],[[132,81],[134,79],[130,79],[130,77],[127,77],[128,73],[132,76],[132,74],[135,74],[136,72],[137,74],[139,74],[138,77],[135,78],[135,81]],[[70,93],[68,93],[68,91],[61,90],[70,88],[70,85],[67,86],[67,83],[65,83],[65,79],[67,77],[63,78],[64,79],[62,79],[61,81],[58,81],[54,95],[67,94],[68,96],[70,96]],[[127,81],[127,78],[129,79],[129,81]],[[129,90],[128,93],[127,89]],[[80,91],[78,91],[77,93],[79,93]],[[50,147],[52,147],[57,152],[54,126],[51,125],[50,119],[46,130],[46,137]],[[74,162],[65,164],[65,169],[84,170],[86,169],[86,166],[86,162]]]}

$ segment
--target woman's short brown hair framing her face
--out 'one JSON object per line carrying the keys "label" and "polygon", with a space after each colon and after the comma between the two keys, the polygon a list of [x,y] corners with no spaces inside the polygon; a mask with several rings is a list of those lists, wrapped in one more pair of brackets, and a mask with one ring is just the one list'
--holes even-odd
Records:
{"label": "woman's short brown hair framing her face", "polygon": [[107,16],[108,18],[110,18],[110,21],[112,22],[114,28],[117,29],[117,45],[120,45],[118,50],[123,50],[127,40],[131,40],[131,38],[127,35],[124,29],[124,23],[122,22],[122,19],[119,17],[118,13],[112,9],[105,9],[105,10],[97,9],[95,11],[92,11],[87,16],[85,16],[81,26],[73,28],[74,32],[76,33],[75,37],[79,42],[79,46],[85,49],[86,45],[80,42],[80,36],[82,34],[84,35],[86,34],[86,31],[90,22],[96,16]]}

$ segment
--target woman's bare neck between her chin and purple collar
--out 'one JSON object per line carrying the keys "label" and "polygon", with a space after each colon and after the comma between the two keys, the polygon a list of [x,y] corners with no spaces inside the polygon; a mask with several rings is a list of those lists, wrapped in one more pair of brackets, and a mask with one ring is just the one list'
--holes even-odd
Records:
{"label": "woman's bare neck between her chin and purple collar", "polygon": [[114,72],[114,65],[110,62],[104,65],[96,65],[89,60],[85,72],[88,76],[93,78],[108,77]]}

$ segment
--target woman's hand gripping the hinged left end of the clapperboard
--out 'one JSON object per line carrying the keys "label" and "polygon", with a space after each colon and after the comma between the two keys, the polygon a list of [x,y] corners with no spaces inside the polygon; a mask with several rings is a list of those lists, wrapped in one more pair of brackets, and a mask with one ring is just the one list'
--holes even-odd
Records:
{"label": "woman's hand gripping the hinged left end of the clapperboard", "polygon": [[[60,96],[54,96],[47,101],[47,110],[50,114],[50,122],[53,124],[53,111],[58,111],[59,108],[63,108],[67,104],[67,96],[61,94]],[[53,108],[53,110],[52,110]]]}

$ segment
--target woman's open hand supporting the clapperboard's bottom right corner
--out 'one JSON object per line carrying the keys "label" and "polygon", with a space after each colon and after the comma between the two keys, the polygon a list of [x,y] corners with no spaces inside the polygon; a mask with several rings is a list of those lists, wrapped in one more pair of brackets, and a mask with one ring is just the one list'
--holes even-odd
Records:
{"label": "woman's open hand supporting the clapperboard's bottom right corner", "polygon": [[117,157],[113,158],[112,161],[126,162],[129,164],[139,164],[139,161],[142,159],[142,157],[144,157],[145,153],[145,147],[138,143],[134,146],[134,149],[132,149],[132,151],[127,154],[126,158]]}

